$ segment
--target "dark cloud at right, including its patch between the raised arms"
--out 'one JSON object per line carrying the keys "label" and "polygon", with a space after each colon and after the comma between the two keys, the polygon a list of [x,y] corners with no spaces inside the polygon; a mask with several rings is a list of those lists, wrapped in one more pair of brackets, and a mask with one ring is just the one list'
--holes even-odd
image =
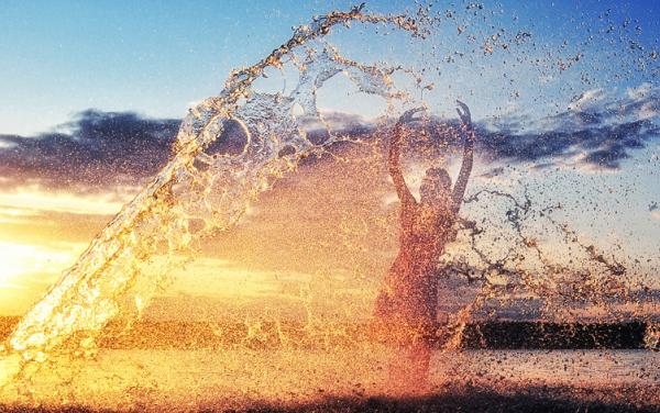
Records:
{"label": "dark cloud at right, including its patch between the raised arms", "polygon": [[[656,122],[659,115],[660,89],[650,85],[628,90],[624,96],[587,91],[554,115],[534,119],[518,114],[476,123],[476,149],[492,163],[618,169],[631,150],[660,137]],[[333,121],[340,124],[337,116]],[[351,118],[343,132],[364,133],[367,126],[356,127]],[[413,132],[408,141],[424,156],[460,148],[458,120],[432,119],[426,124],[415,121],[408,126]],[[416,134],[425,137],[416,138]]]}

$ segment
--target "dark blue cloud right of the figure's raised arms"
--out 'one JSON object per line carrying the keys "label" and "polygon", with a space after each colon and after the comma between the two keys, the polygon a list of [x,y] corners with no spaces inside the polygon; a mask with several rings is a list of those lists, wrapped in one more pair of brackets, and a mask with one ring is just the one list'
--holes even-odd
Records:
{"label": "dark blue cloud right of the figure's raised arms", "polygon": [[483,142],[495,158],[534,163],[571,158],[576,166],[617,169],[631,149],[644,148],[660,136],[654,123],[659,113],[660,89],[648,83],[618,96],[591,90],[564,112],[537,121],[542,125],[538,132],[518,132],[520,126],[532,129],[529,120],[504,120]]}

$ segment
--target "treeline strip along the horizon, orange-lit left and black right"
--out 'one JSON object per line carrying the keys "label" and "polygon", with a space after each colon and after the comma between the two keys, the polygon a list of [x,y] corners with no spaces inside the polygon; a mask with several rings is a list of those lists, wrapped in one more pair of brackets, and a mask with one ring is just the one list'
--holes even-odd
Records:
{"label": "treeline strip along the horizon, orange-lit left and black right", "polygon": [[[0,341],[7,338],[19,317],[0,317]],[[644,348],[644,322],[573,323],[488,321],[469,324],[461,346],[466,349],[636,349]],[[442,326],[439,326],[442,332]],[[111,323],[103,332],[103,348],[318,348],[351,346],[387,339],[387,332],[360,324],[332,324],[310,328],[301,323],[261,322],[222,324],[210,322],[134,322],[130,328]],[[444,337],[447,334],[444,334]],[[436,343],[443,344],[443,334]]]}

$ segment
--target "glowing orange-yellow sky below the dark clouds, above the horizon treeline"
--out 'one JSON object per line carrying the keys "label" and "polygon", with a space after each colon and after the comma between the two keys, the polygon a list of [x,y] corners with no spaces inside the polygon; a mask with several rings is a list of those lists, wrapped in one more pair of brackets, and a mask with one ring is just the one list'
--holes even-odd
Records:
{"label": "glowing orange-yellow sky below the dark clouds, above the horizon treeline", "polygon": [[[398,203],[383,159],[362,155],[316,161],[277,181],[238,227],[202,242],[200,258],[177,272],[174,286],[146,315],[367,317],[396,255]],[[409,169],[415,192],[424,166]],[[499,179],[506,187],[506,179]],[[471,185],[481,180],[477,168]],[[38,300],[136,188],[90,193],[35,186],[1,190],[0,315],[23,314]],[[488,208],[495,217],[503,213]],[[473,206],[464,208],[466,216],[474,219],[474,213]],[[455,291],[442,293],[447,302],[461,304]]]}

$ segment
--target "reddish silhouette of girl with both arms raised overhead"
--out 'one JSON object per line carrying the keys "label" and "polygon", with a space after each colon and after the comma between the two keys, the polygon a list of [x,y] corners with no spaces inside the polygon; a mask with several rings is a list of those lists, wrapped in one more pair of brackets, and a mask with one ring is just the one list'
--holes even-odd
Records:
{"label": "reddish silhouette of girl with both arms raised overhead", "polygon": [[429,338],[436,331],[438,283],[437,263],[447,243],[455,239],[453,228],[472,170],[474,130],[470,109],[457,101],[464,141],[463,163],[457,183],[443,168],[429,168],[419,190],[419,202],[406,186],[400,167],[404,125],[414,120],[417,108],[397,121],[389,143],[388,169],[400,200],[400,247],[384,287],[376,298],[375,315],[386,322],[388,334],[402,347],[391,366],[392,378],[426,387],[430,359]]}

